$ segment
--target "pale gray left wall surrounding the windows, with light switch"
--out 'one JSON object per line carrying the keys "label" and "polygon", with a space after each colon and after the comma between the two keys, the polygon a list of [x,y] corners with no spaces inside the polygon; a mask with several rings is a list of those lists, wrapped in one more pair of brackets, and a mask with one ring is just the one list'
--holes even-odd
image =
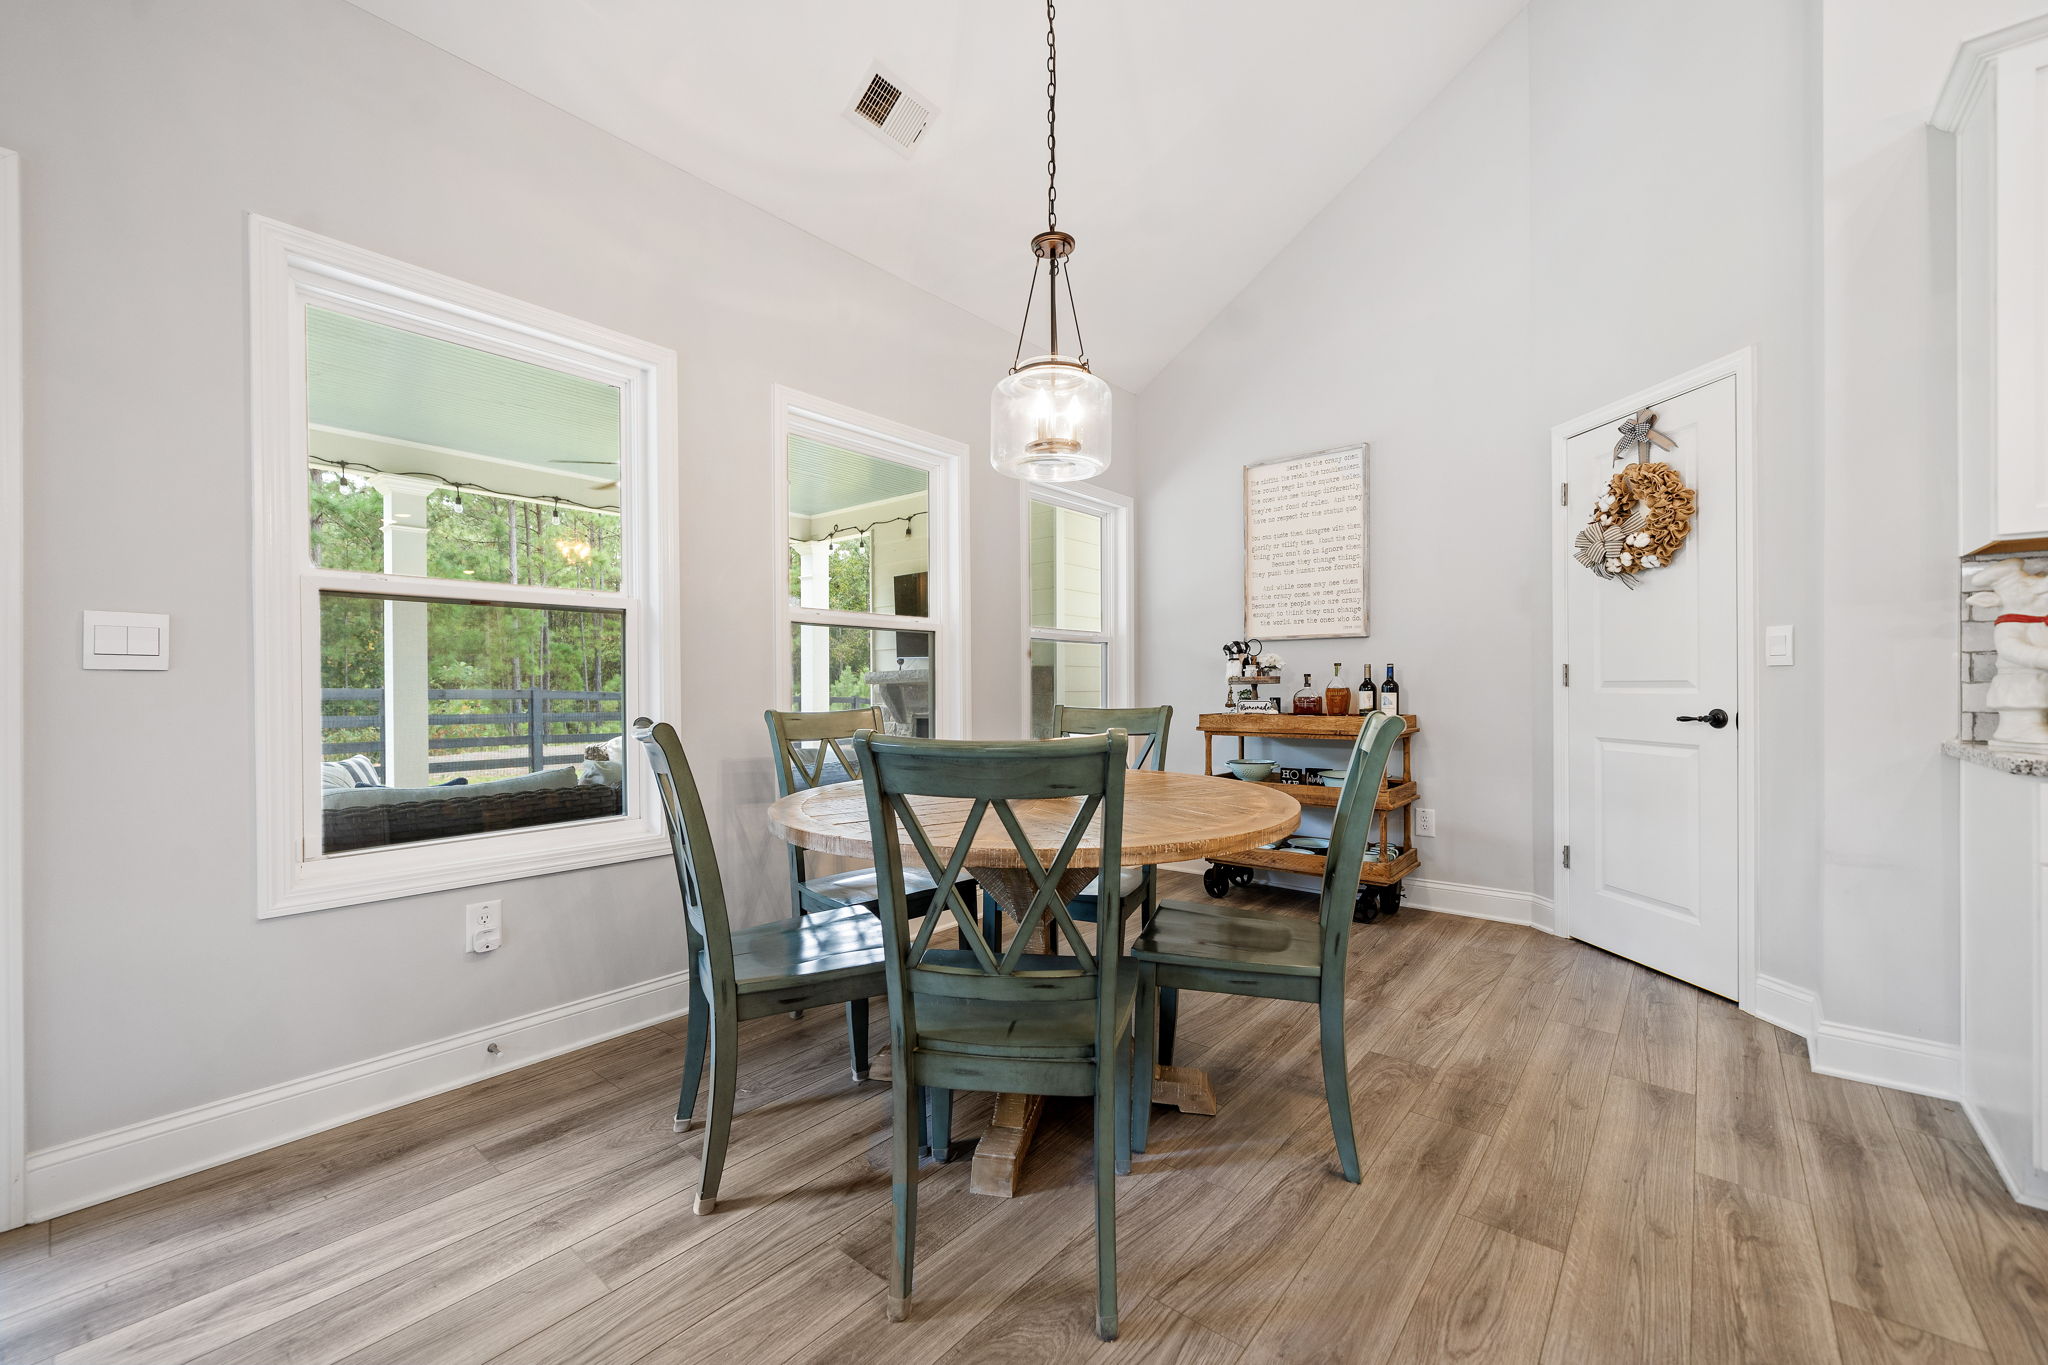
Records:
{"label": "pale gray left wall surrounding the windows, with light switch", "polygon": [[[786,905],[774,383],[977,448],[971,722],[1016,735],[995,327],[340,0],[8,6],[0,145],[27,190],[31,1150],[682,968],[664,862],[256,919],[246,213],[676,348],[684,624],[717,665],[680,729],[743,915]],[[82,608],[170,612],[176,667],[82,673]],[[483,894],[506,948],[465,958]]]}

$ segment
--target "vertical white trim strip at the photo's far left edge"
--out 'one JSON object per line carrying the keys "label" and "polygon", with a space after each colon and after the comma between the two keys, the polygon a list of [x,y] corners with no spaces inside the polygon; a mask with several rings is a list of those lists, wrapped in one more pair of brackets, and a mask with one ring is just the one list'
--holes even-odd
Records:
{"label": "vertical white trim strip at the photo's far left edge", "polygon": [[27,1222],[27,1013],[23,1009],[23,573],[20,158],[0,147],[0,1230]]}

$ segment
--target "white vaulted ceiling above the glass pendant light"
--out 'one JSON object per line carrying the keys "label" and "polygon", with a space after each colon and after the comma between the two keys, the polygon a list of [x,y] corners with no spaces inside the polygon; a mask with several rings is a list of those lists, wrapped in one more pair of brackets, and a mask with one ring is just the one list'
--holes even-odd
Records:
{"label": "white vaulted ceiling above the glass pendant light", "polygon": [[[979,317],[1022,317],[1038,4],[354,2]],[[1067,0],[1059,225],[1096,368],[1151,381],[1520,8]],[[909,158],[842,117],[874,63],[938,106]]]}

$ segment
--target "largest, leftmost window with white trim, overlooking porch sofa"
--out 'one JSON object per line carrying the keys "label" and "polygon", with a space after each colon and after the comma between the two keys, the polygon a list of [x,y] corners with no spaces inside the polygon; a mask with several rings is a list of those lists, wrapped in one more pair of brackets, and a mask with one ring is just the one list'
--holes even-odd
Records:
{"label": "largest, leftmost window with white trim, overlooking porch sofa", "polygon": [[266,913],[662,849],[668,352],[256,221]]}

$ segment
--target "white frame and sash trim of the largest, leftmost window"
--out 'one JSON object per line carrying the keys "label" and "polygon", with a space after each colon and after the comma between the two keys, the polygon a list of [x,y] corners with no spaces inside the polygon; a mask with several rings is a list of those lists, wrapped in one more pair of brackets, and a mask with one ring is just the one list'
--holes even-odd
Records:
{"label": "white frame and sash trim of the largest, leftmost window", "polygon": [[[319,706],[319,589],[444,598],[440,585],[383,573],[315,569],[305,530],[307,303],[463,346],[481,346],[621,387],[618,593],[463,581],[461,598],[627,610],[627,706],[680,714],[682,622],[676,610],[676,354],[549,309],[287,223],[250,215],[250,432],[254,487],[256,853],[262,919],[393,900],[457,886],[659,857],[659,808],[643,782],[602,821],[307,855],[319,835],[319,765],[309,735]],[[668,522],[668,524],[664,524]],[[629,718],[631,718],[629,710]]]}

